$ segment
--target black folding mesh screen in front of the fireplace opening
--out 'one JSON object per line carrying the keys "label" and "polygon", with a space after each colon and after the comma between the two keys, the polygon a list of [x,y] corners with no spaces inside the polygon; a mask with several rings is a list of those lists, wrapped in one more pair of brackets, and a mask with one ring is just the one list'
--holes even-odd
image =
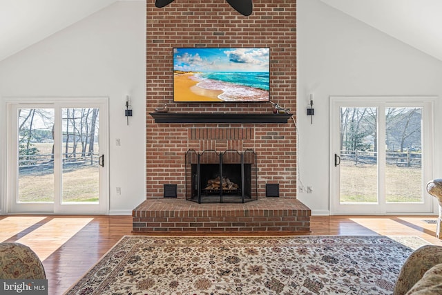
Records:
{"label": "black folding mesh screen in front of the fireplace opening", "polygon": [[186,200],[249,202],[258,198],[256,153],[213,150],[186,153]]}

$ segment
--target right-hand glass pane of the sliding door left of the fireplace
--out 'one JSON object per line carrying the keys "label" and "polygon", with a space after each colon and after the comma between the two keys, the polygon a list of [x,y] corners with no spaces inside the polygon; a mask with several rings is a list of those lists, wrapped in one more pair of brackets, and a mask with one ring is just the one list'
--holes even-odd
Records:
{"label": "right-hand glass pane of the sliding door left of the fireplace", "polygon": [[99,200],[99,109],[61,108],[62,202]]}

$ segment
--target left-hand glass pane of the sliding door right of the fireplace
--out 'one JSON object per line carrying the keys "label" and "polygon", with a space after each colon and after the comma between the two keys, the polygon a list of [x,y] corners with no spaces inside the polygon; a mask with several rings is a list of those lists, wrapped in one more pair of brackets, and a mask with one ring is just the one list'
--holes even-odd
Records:
{"label": "left-hand glass pane of the sliding door right of the fireplace", "polygon": [[376,108],[340,108],[340,204],[378,202]]}

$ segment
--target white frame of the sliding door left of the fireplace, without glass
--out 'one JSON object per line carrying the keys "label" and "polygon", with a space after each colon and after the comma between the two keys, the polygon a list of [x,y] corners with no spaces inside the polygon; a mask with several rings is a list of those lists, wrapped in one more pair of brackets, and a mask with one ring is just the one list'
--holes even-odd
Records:
{"label": "white frame of the sliding door left of the fireplace, without glass", "polygon": [[[10,97],[3,99],[6,102],[6,124],[3,129],[3,134],[6,134],[6,142],[2,142],[3,146],[6,146],[6,152],[3,157],[6,157],[6,163],[2,167],[1,171],[4,173],[2,175],[2,182],[5,184],[3,187],[4,193],[2,193],[1,198],[1,209],[3,213],[55,213],[55,214],[108,214],[109,211],[109,141],[108,141],[108,97]],[[72,203],[72,204],[62,204],[61,200],[54,203],[50,203],[48,206],[44,204],[42,206],[36,206],[39,204],[30,204],[29,206],[21,207],[20,212],[15,212],[11,204],[13,196],[17,196],[17,142],[15,138],[12,137],[11,130],[17,127],[17,122],[12,122],[11,111],[12,109],[26,108],[28,106],[48,107],[48,108],[70,108],[70,107],[97,107],[99,106],[99,120],[100,120],[100,136],[99,136],[99,153],[104,155],[104,167],[100,167],[100,179],[99,179],[99,203]],[[61,134],[60,126],[57,127],[61,122],[57,116],[57,111],[55,113],[56,129],[55,136]],[[58,124],[57,124],[58,123]],[[58,128],[58,130],[57,130]],[[57,149],[56,149],[57,150]],[[55,151],[57,152],[57,151]],[[15,155],[12,157],[11,155]],[[5,159],[5,158],[3,158]],[[54,166],[55,173],[61,173],[61,167]],[[14,179],[15,178],[15,179]],[[55,182],[55,189],[59,188],[61,184]],[[57,197],[57,196],[56,196]],[[23,211],[22,211],[23,210]]]}

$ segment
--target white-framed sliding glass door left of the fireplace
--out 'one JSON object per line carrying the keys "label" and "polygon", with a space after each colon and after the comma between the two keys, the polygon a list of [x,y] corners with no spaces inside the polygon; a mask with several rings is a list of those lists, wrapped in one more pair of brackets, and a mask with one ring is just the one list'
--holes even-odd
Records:
{"label": "white-framed sliding glass door left of the fireplace", "polygon": [[106,110],[106,101],[9,105],[9,212],[107,212]]}

